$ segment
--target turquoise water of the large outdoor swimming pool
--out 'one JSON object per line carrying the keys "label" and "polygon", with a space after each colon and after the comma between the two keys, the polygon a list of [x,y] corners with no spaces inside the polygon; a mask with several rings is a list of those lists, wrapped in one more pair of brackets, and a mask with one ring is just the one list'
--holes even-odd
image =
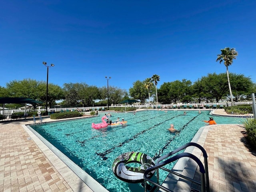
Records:
{"label": "turquoise water of the large outdoor swimming pool", "polygon": [[[92,122],[100,123],[98,117],[30,125],[40,135],[56,146],[68,158],[90,174],[110,192],[143,191],[140,184],[122,182],[112,172],[115,158],[124,152],[142,152],[154,159],[188,143],[198,129],[205,126],[209,111],[148,110],[133,113],[112,113],[128,121],[126,127],[101,130],[91,128]],[[214,116],[217,124],[241,124],[241,118]],[[174,124],[179,134],[171,134],[167,128]],[[174,162],[175,163],[175,162]],[[167,168],[172,168],[173,164]],[[160,175],[164,180],[166,175]]]}

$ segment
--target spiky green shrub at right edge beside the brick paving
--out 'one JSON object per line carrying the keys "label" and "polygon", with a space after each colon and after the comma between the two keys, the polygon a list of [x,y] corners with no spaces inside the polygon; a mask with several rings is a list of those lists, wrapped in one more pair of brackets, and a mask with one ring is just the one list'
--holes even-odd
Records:
{"label": "spiky green shrub at right edge beside the brick paving", "polygon": [[254,149],[256,149],[256,120],[254,118],[246,118],[243,125],[247,132],[248,142]]}

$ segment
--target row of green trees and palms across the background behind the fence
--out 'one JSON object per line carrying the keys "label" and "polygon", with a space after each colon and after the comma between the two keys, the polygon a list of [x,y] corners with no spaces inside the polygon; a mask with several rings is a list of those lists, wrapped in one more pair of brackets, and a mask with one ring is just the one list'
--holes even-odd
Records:
{"label": "row of green trees and palms across the background behind the fence", "polygon": [[[192,84],[190,80],[175,80],[164,82],[159,89],[157,84],[160,76],[154,74],[144,81],[136,81],[129,91],[115,87],[97,87],[82,83],[64,83],[62,87],[55,84],[48,84],[48,106],[56,104],[56,101],[63,100],[62,106],[94,106],[95,104],[106,106],[107,98],[110,104],[119,104],[122,100],[136,99],[145,104],[149,103],[170,104],[176,102],[218,102],[221,99],[228,99],[232,102],[248,100],[251,93],[256,92],[256,84],[250,77],[243,74],[228,72],[228,66],[236,59],[238,52],[234,48],[221,49],[217,55],[217,61],[224,62],[225,73],[212,73],[198,78]],[[232,94],[235,92],[235,94]],[[13,80],[6,83],[6,87],[0,86],[0,97],[25,97],[46,102],[46,82],[32,79]],[[99,101],[96,103],[96,101]],[[34,106],[36,107],[36,106]]]}

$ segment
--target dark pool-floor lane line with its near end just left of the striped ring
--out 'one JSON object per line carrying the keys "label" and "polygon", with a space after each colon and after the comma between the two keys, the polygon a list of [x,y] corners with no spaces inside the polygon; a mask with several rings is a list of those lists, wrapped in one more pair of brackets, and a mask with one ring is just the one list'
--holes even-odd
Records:
{"label": "dark pool-floor lane line with its near end just left of the striped ring", "polygon": [[106,155],[109,154],[110,152],[112,152],[115,148],[121,147],[123,144],[128,143],[128,142],[134,140],[135,138],[137,138],[137,137],[140,136],[141,134],[144,134],[146,131],[148,131],[148,130],[150,130],[150,129],[152,129],[152,128],[154,128],[154,127],[156,127],[156,126],[158,126],[158,125],[160,125],[160,124],[162,124],[162,123],[164,123],[164,122],[166,122],[166,121],[169,121],[169,120],[172,120],[173,118],[176,118],[176,117],[178,117],[178,116],[181,116],[181,115],[183,115],[183,114],[179,114],[179,115],[174,116],[174,117],[172,117],[172,118],[170,118],[170,119],[167,119],[167,120],[165,120],[165,121],[163,121],[163,122],[161,122],[161,123],[158,123],[158,124],[156,124],[156,125],[154,125],[154,126],[148,128],[148,129],[146,129],[146,130],[143,130],[143,131],[137,133],[137,134],[134,135],[132,138],[130,138],[130,139],[128,139],[128,140],[125,140],[125,141],[122,142],[122,143],[119,143],[118,146],[114,146],[114,147],[112,147],[112,148],[110,148],[110,149],[104,151],[103,153],[97,153],[97,152],[96,152],[96,154],[97,154],[98,156],[101,156],[101,157],[102,157],[102,160],[107,160],[108,158],[106,157]]}

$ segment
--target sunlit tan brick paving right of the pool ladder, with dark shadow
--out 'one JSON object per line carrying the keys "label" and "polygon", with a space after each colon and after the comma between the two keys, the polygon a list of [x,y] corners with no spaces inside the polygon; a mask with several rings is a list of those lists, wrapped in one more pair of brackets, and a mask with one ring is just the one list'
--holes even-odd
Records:
{"label": "sunlit tan brick paving right of the pool ladder, with dark shadow", "polygon": [[238,125],[209,128],[204,143],[212,192],[256,192],[256,151],[246,147]]}

